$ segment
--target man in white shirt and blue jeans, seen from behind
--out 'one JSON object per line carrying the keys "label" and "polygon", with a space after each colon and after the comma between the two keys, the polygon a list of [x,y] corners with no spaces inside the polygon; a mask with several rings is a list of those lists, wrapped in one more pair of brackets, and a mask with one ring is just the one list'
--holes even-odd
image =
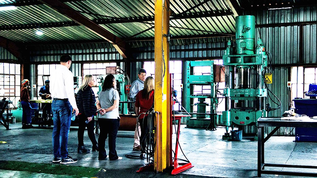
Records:
{"label": "man in white shirt and blue jeans, seen from behind", "polygon": [[[74,75],[69,71],[72,58],[69,55],[62,55],[60,65],[50,76],[50,88],[53,113],[53,163],[76,163],[77,159],[68,155],[67,143],[72,113],[78,115],[74,95]],[[61,139],[61,140],[60,140]]]}

